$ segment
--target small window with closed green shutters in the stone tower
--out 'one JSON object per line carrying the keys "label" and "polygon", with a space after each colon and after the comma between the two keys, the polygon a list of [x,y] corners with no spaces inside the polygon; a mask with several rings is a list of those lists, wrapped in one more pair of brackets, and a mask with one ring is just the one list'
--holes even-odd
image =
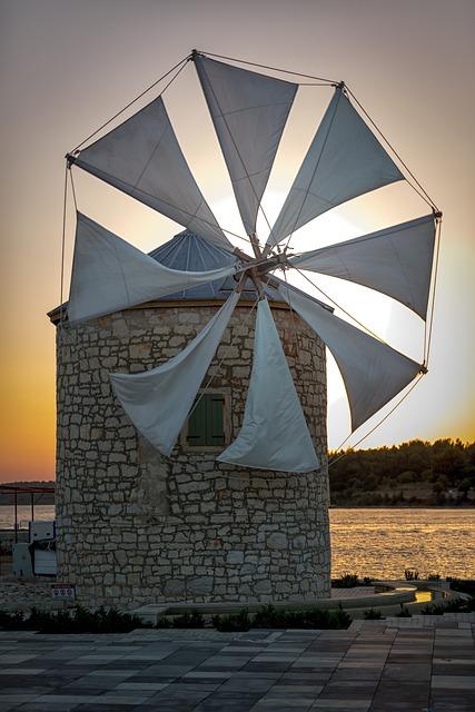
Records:
{"label": "small window with closed green shutters in the stone tower", "polygon": [[206,392],[197,397],[197,405],[188,418],[182,443],[186,448],[217,448],[228,442],[228,394]]}

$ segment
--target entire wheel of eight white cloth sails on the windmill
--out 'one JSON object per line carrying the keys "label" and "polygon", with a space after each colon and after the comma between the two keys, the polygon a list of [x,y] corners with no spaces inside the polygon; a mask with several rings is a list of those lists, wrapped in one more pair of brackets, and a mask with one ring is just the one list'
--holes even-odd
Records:
{"label": "entire wheel of eight white cloth sails on the windmill", "polygon": [[229,231],[218,225],[190,172],[160,95],[93,142],[68,154],[68,169],[75,166],[92,174],[179,222],[224,250],[229,261],[205,271],[170,269],[78,212],[68,324],[75,327],[218,279],[234,280],[225,304],[178,355],[144,373],[110,374],[115,394],[137,431],[162,455],[172,457],[222,334],[251,280],[258,304],[244,421],[236,439],[217,459],[308,473],[320,463],[266,289],[277,290],[334,355],[354,432],[426,372],[427,354],[420,363],[408,358],[337,317],[281,275],[309,270],[369,287],[412,309],[426,328],[429,312],[431,328],[442,214],[416,181],[416,190],[429,205],[428,214],[344,243],[290,254],[290,238],[318,216],[383,186],[415,181],[362,117],[360,105],[345,83],[323,80],[333,87],[331,100],[263,245],[256,234],[257,216],[298,82],[221,59],[226,58],[194,50],[167,76],[175,71],[174,80],[188,62],[196,67],[250,250],[235,247]]}

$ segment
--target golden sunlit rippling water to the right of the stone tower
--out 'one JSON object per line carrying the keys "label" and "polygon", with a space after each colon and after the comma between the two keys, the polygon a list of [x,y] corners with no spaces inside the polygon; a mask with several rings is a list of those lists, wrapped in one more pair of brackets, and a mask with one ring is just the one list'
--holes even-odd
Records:
{"label": "golden sunlit rippling water to the right of the stone tower", "polygon": [[475,510],[330,510],[331,573],[475,577]]}

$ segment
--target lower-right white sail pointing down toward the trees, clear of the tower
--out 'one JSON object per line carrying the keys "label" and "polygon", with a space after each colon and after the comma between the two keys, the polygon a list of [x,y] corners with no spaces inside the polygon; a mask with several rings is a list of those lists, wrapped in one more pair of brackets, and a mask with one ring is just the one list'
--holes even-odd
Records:
{"label": "lower-right white sail pointing down toward the trees, clear of the tower", "polygon": [[279,291],[334,355],[349,400],[352,432],[420,372],[419,364],[339,319],[300,291],[285,286]]}

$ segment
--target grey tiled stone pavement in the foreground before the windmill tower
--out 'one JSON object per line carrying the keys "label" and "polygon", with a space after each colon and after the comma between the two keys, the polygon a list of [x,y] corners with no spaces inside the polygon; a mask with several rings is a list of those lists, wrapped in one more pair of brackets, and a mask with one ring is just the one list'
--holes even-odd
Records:
{"label": "grey tiled stone pavement in the foreground before the windmill tower", "polygon": [[0,632],[0,710],[473,712],[474,614],[347,631]]}

